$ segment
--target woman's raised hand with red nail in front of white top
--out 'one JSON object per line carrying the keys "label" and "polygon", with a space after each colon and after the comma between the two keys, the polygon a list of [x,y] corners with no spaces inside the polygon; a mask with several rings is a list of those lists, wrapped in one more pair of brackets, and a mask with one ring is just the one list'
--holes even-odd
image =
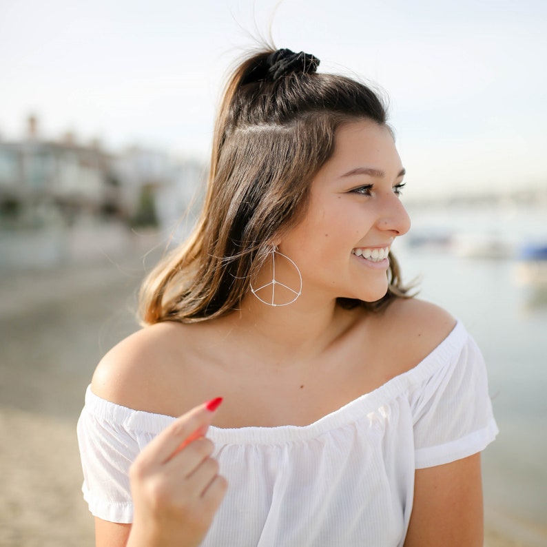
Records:
{"label": "woman's raised hand with red nail in front of white top", "polygon": [[127,547],[193,547],[205,537],[227,482],[203,435],[220,399],[177,418],[130,468],[134,519]]}

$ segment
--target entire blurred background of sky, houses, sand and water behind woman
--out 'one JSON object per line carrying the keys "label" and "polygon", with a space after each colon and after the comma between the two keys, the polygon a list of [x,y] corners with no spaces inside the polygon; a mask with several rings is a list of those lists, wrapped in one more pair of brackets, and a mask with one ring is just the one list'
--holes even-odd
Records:
{"label": "entire blurred background of sky, houses, sand and water behind woman", "polygon": [[0,545],[93,544],[85,387],[192,225],[223,76],[270,19],[279,47],[389,94],[404,279],[488,367],[485,546],[546,546],[547,4],[532,0],[0,1]]}

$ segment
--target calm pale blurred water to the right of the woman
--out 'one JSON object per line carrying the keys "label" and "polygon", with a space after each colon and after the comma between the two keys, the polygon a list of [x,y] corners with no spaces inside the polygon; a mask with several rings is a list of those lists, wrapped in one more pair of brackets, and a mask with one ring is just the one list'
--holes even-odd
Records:
{"label": "calm pale blurred water to the right of the woman", "polygon": [[[547,242],[547,208],[413,211],[413,231],[442,227],[466,241],[495,236],[510,249]],[[519,282],[520,263],[459,256],[461,247],[397,249],[404,278],[422,277],[420,296],[466,324],[484,353],[500,429],[484,453],[486,513],[504,526],[547,530],[547,285]],[[547,536],[546,543],[547,545]]]}

